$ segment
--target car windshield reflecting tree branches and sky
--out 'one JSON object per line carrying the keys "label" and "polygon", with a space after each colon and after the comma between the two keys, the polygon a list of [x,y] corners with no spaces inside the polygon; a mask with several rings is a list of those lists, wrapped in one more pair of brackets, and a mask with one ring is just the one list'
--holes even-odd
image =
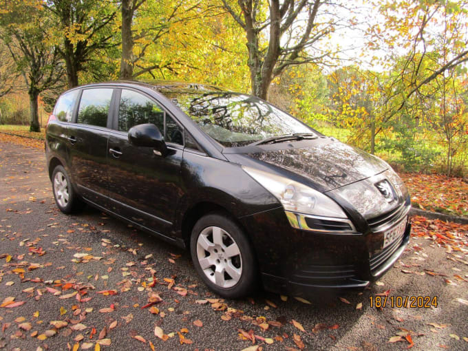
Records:
{"label": "car windshield reflecting tree branches and sky", "polygon": [[160,89],[160,92],[224,147],[244,146],[276,136],[317,134],[255,96],[203,89]]}

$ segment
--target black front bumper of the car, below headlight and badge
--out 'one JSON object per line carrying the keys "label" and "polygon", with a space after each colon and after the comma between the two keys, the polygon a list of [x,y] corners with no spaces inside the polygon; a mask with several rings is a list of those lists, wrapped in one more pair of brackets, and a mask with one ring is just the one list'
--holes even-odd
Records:
{"label": "black front bumper of the car, below headlight and badge", "polygon": [[[398,218],[400,222],[407,217]],[[386,248],[383,231],[315,233],[292,228],[282,209],[244,217],[256,248],[264,288],[292,296],[317,289],[364,288],[389,270],[405,250],[411,232]],[[253,233],[256,233],[255,235]]]}

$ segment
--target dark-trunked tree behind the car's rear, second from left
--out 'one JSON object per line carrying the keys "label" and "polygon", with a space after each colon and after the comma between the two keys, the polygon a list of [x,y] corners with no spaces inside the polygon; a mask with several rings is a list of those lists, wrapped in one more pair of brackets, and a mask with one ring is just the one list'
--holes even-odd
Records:
{"label": "dark-trunked tree behind the car's rear, second from left", "polygon": [[78,74],[94,60],[98,50],[109,50],[116,45],[111,23],[117,9],[107,0],[47,0],[43,3],[56,22],[51,27],[67,67],[68,87],[78,85]]}

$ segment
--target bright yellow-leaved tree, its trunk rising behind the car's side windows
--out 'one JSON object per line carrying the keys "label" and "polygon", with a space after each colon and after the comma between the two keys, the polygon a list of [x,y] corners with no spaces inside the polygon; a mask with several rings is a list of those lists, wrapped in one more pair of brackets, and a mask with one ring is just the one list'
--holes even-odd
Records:
{"label": "bright yellow-leaved tree, its trunk rising behind the car's side windows", "polygon": [[[210,18],[217,14],[213,12],[213,8],[210,1],[202,3],[198,0],[120,1],[120,78],[134,79],[145,75],[152,78],[164,77],[164,74],[175,72],[182,65],[198,69],[185,59],[189,50],[184,45],[184,40],[179,40],[178,36],[185,37],[189,34],[192,41],[196,41],[193,40],[195,36],[204,27],[210,26]],[[169,37],[170,40],[163,40]],[[185,48],[183,54],[182,47]],[[172,58],[171,52],[178,53],[178,57]]]}

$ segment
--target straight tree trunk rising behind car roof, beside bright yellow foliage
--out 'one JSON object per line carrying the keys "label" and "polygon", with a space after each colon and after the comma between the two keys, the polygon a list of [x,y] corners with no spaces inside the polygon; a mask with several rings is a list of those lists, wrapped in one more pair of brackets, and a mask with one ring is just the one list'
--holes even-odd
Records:
{"label": "straight tree trunk rising behind car roof, beside bright yellow foliage", "polygon": [[131,35],[131,23],[134,17],[134,8],[131,0],[122,0],[122,58],[120,59],[120,79],[131,79],[134,75],[132,60],[134,39]]}

